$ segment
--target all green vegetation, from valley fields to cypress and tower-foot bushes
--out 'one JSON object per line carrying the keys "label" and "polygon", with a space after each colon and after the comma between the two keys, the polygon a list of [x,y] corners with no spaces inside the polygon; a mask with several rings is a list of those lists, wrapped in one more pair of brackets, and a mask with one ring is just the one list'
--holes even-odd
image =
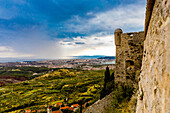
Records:
{"label": "all green vegetation, from valley fields to cypress and tower-foot bushes", "polygon": [[[107,112],[129,113],[135,111],[137,103],[133,84],[116,83],[114,71],[53,69],[20,67],[1,68],[0,76],[26,77],[19,83],[0,87],[0,112],[21,112],[26,109],[45,109],[48,105],[62,102],[72,105],[78,103],[86,107],[113,92],[112,108]],[[33,73],[38,73],[33,75]],[[135,76],[135,75],[133,75]],[[134,79],[136,84],[137,79]],[[143,94],[141,94],[141,98]],[[58,107],[52,106],[53,110]],[[134,109],[133,109],[134,108]],[[78,112],[82,111],[82,107]],[[70,112],[70,111],[69,111]]]}

